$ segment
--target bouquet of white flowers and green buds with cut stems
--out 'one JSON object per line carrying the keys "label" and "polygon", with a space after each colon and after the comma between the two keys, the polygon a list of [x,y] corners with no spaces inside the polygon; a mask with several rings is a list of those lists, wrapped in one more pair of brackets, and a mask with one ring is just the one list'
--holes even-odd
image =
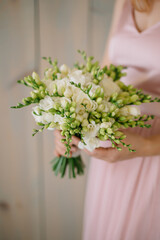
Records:
{"label": "bouquet of white flowers and green buds with cut stems", "polygon": [[154,116],[142,115],[138,105],[160,102],[132,85],[126,86],[120,80],[126,75],[125,67],[111,64],[109,68],[101,68],[93,57],[78,52],[84,64],[76,63],[73,68],[65,64],[58,67],[57,60],[43,57],[51,67],[45,69],[42,79],[33,72],[32,76],[18,80],[33,91],[23,103],[12,107],[36,104],[32,115],[40,128],[33,130],[33,136],[44,129],[61,131],[66,153],[53,159],[52,168],[56,175],[60,173],[63,177],[68,167],[70,178],[83,174],[85,167],[80,156],[69,157],[72,136],[80,138],[80,149],[93,151],[101,141],[109,140],[113,148],[121,151],[124,146],[133,152],[131,145],[123,142],[126,136],[121,130],[136,126],[149,128],[147,121]]}

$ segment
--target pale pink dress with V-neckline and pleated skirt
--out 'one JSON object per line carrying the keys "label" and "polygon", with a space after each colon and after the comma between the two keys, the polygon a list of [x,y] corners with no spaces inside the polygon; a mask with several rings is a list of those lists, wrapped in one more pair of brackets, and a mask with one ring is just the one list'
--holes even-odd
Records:
{"label": "pale pink dress with V-neckline and pleated skirt", "polygon": [[[160,22],[139,33],[130,1],[110,43],[110,61],[127,66],[123,81],[160,96]],[[143,104],[156,115],[143,136],[160,134],[160,103]],[[110,164],[92,158],[86,188],[83,240],[160,240],[160,156]]]}

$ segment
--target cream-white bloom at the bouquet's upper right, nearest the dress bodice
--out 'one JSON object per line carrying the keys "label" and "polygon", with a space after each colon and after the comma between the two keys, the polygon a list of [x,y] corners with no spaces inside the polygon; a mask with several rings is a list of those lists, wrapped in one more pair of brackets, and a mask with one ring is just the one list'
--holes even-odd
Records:
{"label": "cream-white bloom at the bouquet's upper right, nearest the dress bodice", "polygon": [[121,91],[120,87],[107,75],[104,75],[104,78],[100,81],[100,86],[104,89],[105,97],[111,96],[114,92],[119,93]]}

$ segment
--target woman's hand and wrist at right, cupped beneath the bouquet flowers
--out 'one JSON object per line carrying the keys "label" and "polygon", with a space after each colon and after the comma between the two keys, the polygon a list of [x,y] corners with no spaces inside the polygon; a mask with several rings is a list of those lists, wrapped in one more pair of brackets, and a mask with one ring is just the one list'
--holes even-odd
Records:
{"label": "woman's hand and wrist at right, cupped beneath the bouquet flowers", "polygon": [[110,163],[149,155],[150,142],[147,138],[127,130],[123,132],[127,136],[123,142],[131,144],[131,148],[135,149],[136,152],[129,152],[127,147],[123,147],[121,151],[118,151],[116,148],[103,147],[96,148],[93,152],[86,149],[84,149],[84,151],[92,157],[102,159]]}

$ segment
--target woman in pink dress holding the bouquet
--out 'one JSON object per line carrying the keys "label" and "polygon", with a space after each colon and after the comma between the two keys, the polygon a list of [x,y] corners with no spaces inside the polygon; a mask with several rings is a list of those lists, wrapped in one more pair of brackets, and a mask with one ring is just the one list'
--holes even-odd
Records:
{"label": "woman in pink dress holding the bouquet", "polygon": [[[160,96],[160,1],[117,0],[103,65],[127,66],[126,84]],[[160,239],[160,104],[142,105],[156,115],[152,128],[126,130],[136,149],[98,148],[90,156],[84,240]],[[55,132],[57,156],[64,147]],[[78,139],[73,138],[73,144]],[[104,147],[104,146],[103,146]],[[72,146],[71,151],[76,151]]]}

